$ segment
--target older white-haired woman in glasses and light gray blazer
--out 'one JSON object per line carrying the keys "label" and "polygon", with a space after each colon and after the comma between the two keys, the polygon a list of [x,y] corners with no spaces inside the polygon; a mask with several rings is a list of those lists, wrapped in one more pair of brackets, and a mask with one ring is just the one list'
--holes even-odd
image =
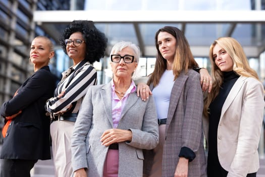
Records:
{"label": "older white-haired woman in glasses and light gray blazer", "polygon": [[89,87],[72,138],[74,176],[142,176],[142,149],[158,144],[158,125],[152,97],[137,97],[132,75],[139,48],[117,43],[110,55],[113,79]]}

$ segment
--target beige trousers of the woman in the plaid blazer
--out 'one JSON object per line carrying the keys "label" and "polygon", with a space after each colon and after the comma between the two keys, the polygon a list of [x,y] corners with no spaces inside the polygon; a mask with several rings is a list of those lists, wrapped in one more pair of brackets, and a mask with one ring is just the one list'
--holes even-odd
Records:
{"label": "beige trousers of the woman in the plaid blazer", "polygon": [[165,138],[166,138],[165,131],[166,131],[166,124],[159,125],[159,143],[153,149],[154,158],[153,158],[153,165],[152,165],[149,177],[161,177],[162,176],[163,146],[164,146]]}

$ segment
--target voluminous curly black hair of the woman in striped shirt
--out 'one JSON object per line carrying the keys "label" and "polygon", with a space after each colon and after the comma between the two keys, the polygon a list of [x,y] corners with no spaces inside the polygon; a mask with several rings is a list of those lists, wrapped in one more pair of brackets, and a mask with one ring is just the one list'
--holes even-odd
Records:
{"label": "voluminous curly black hair of the woman in striped shirt", "polygon": [[93,21],[88,20],[74,20],[65,28],[64,33],[60,37],[60,44],[67,54],[65,39],[68,39],[71,34],[81,32],[86,43],[85,60],[93,64],[95,61],[104,57],[105,49],[107,48],[108,38],[104,33],[99,31]]}

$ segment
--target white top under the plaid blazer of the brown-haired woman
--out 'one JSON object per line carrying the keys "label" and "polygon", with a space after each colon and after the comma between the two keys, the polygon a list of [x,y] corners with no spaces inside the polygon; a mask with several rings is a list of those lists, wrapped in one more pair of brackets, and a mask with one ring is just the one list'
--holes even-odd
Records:
{"label": "white top under the plaid blazer of the brown-haired woman", "polygon": [[165,70],[158,85],[152,90],[158,119],[168,117],[169,101],[173,85],[173,70]]}

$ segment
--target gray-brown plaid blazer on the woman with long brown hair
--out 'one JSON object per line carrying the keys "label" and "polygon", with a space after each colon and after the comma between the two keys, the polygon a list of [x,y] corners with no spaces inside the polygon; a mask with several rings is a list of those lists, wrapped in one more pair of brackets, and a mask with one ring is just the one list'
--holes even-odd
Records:
{"label": "gray-brown plaid blazer on the woman with long brown hair", "polygon": [[[150,85],[152,88],[152,85]],[[203,96],[199,74],[189,70],[175,80],[171,91],[166,124],[162,176],[174,176],[182,147],[190,148],[196,157],[189,162],[188,176],[206,176],[206,158],[202,134]],[[151,153],[145,154],[145,174],[149,172]],[[149,165],[148,165],[148,164]]]}

